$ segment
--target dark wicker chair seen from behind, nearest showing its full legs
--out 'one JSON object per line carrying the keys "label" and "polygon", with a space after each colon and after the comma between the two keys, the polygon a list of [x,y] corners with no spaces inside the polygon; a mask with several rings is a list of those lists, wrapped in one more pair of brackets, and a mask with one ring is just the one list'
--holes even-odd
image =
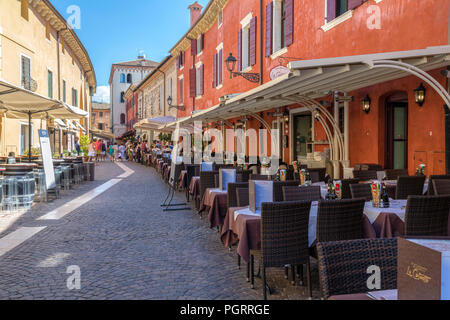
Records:
{"label": "dark wicker chair seen from behind, nearest showing its full legs", "polygon": [[311,202],[263,203],[261,208],[261,250],[250,251],[250,279],[254,286],[254,257],[261,255],[263,296],[267,300],[267,268],[306,264],[308,292],[311,297],[311,277],[308,248],[308,225]]}

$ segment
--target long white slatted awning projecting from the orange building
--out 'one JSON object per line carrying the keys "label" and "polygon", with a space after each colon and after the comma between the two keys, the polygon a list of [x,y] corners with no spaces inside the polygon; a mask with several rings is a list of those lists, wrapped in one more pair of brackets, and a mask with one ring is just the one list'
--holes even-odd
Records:
{"label": "long white slatted awning projecting from the orange building", "polygon": [[[399,67],[400,65],[402,66]],[[328,96],[332,91],[351,92],[410,76],[416,74],[413,69],[430,71],[448,65],[450,46],[295,61],[289,63],[289,74],[178,122],[214,122],[256,114],[294,104],[298,99],[317,99]],[[175,125],[168,124],[163,128],[168,127],[174,128]]]}

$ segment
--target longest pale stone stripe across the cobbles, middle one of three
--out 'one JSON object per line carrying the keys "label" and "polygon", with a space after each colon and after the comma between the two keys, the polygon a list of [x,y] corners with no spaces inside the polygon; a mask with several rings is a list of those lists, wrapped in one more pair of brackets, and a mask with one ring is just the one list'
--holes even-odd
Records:
{"label": "longest pale stone stripe across the cobbles, middle one of three", "polygon": [[102,184],[101,186],[95,188],[94,190],[88,191],[82,196],[73,199],[72,201],[67,202],[65,205],[50,211],[46,215],[40,217],[38,220],[58,220],[63,218],[64,216],[68,215],[72,211],[78,209],[82,205],[86,204],[87,202],[91,201],[95,197],[101,195],[103,192],[111,188],[112,186],[116,185],[117,183],[121,182],[120,179],[111,179],[108,182]]}

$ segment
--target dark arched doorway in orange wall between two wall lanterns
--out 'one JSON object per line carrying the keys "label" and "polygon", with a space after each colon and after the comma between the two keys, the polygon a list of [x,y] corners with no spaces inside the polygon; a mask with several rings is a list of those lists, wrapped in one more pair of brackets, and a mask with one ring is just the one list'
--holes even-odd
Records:
{"label": "dark arched doorway in orange wall between two wall lanterns", "polygon": [[386,168],[408,169],[408,99],[396,94],[386,101]]}

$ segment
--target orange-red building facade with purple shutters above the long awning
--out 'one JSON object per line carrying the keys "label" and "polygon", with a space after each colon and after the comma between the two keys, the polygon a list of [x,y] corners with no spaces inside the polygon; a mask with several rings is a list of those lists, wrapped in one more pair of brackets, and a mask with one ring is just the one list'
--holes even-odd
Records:
{"label": "orange-red building facade with purple shutters above the long awning", "polygon": [[[292,75],[309,72],[294,70],[292,66],[298,61],[312,66],[325,58],[449,45],[448,0],[212,0],[201,15],[198,4],[190,10],[192,26],[171,50],[177,59],[178,105],[184,107],[178,118],[184,122],[194,121],[201,110],[217,108],[221,98],[270,86],[277,81],[276,71]],[[225,62],[230,53],[237,59],[235,72],[255,74],[259,81],[231,77]],[[420,56],[408,62],[421,68],[429,59]],[[426,72],[448,89],[447,77],[441,73],[446,70],[445,62],[436,66],[427,64]],[[378,163],[413,174],[424,163],[428,174],[445,173],[444,100],[416,75],[389,79],[387,74],[392,71],[383,69],[380,80],[372,78],[367,86],[364,76],[360,80],[355,77],[355,82],[361,82],[355,86],[357,90],[344,91],[336,82],[310,96],[341,128],[348,152],[346,166]],[[426,96],[419,106],[414,90],[421,83]],[[368,113],[362,109],[365,97],[370,98]],[[278,99],[282,98],[281,94]],[[278,103],[270,108],[269,100],[266,109],[256,108],[255,113],[272,128],[282,129],[280,152],[285,163],[330,148],[331,139],[314,114],[296,103],[286,101],[281,107]],[[230,113],[229,118],[221,119],[235,125],[244,119],[247,129],[262,128],[255,117],[233,117]],[[208,126],[217,126],[217,122]]]}

